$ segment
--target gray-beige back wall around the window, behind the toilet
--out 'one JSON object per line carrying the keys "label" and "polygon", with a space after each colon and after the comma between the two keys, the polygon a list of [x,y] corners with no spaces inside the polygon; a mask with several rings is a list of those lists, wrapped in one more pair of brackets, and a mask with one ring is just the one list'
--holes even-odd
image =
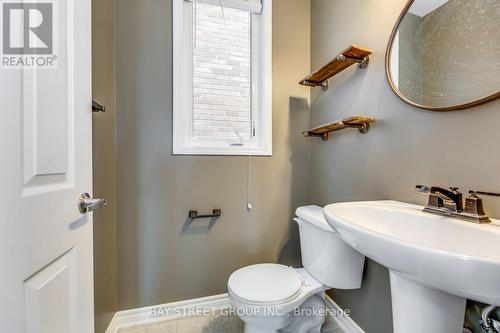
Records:
{"label": "gray-beige back wall around the window, behind the toilet", "polygon": [[[118,303],[120,309],[226,292],[230,273],[298,264],[294,209],[309,202],[309,0],[273,8],[273,156],[172,156],[172,8],[117,0]],[[290,24],[293,22],[293,24]],[[211,230],[190,209],[221,208]]]}

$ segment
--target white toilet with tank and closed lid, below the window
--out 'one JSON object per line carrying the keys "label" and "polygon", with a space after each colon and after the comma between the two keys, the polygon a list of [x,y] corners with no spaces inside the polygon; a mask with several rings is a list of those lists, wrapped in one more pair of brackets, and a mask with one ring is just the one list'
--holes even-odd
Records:
{"label": "white toilet with tank and closed lid, below the window", "polygon": [[295,214],[304,268],[257,264],[229,277],[229,300],[245,333],[319,333],[324,292],[361,286],[365,257],[328,225],[323,209],[300,207]]}

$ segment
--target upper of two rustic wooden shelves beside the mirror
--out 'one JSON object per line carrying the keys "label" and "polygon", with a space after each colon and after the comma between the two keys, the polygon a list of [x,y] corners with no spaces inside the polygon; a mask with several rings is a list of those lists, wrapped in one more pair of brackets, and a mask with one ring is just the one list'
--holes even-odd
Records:
{"label": "upper of two rustic wooden shelves beside the mirror", "polygon": [[344,69],[354,64],[358,64],[359,68],[365,69],[370,61],[370,54],[372,54],[372,50],[370,49],[351,45],[327,65],[301,80],[299,84],[309,87],[321,86],[323,90],[327,90],[328,79],[342,72]]}

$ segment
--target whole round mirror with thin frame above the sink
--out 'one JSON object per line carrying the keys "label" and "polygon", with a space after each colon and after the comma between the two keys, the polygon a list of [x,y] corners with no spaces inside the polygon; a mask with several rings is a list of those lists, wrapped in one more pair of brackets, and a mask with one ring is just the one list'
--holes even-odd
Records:
{"label": "whole round mirror with thin frame above the sink", "polygon": [[386,53],[387,78],[406,103],[465,109],[500,97],[500,0],[411,0]]}

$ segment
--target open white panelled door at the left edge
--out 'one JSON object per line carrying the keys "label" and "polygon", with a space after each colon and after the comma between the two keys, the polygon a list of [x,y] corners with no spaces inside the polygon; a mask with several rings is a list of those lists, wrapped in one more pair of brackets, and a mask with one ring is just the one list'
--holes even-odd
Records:
{"label": "open white panelled door at the left edge", "polygon": [[90,0],[0,3],[0,332],[93,332]]}

